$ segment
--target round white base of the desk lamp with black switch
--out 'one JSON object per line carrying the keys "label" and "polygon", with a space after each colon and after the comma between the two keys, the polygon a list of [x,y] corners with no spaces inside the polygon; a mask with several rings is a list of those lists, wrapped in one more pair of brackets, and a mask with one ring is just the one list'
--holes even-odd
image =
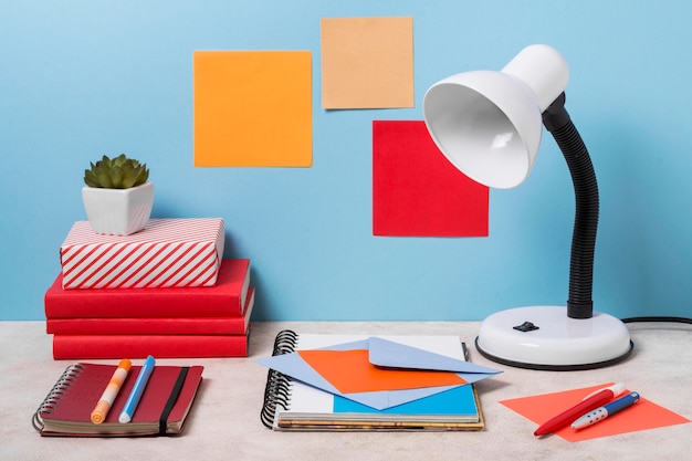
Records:
{"label": "round white base of the desk lamp with black switch", "polygon": [[633,348],[625,324],[608,314],[569,318],[567,307],[532,306],[497,312],[483,321],[475,347],[513,367],[581,370],[610,366]]}

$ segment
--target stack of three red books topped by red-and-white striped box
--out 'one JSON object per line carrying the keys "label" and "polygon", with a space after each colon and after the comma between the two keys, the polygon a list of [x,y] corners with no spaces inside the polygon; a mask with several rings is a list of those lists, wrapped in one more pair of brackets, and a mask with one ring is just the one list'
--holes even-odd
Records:
{"label": "stack of three red books topped by red-and-white striped box", "polygon": [[[164,224],[170,227],[170,222]],[[198,255],[186,260],[171,251],[165,262],[154,264],[158,268],[156,271],[151,270],[153,262],[148,262],[146,277],[133,275],[136,271],[132,260],[143,264],[147,262],[147,256],[141,254],[141,247],[149,245],[149,251],[158,253],[157,258],[161,259],[160,253],[167,251],[161,245],[171,244],[151,243],[147,239],[150,234],[145,232],[146,229],[137,238],[101,235],[96,238],[96,243],[80,243],[78,256],[70,254],[74,248],[67,239],[61,249],[63,271],[44,297],[46,333],[53,335],[53,357],[111,359],[144,358],[148,355],[156,358],[248,356],[250,316],[254,305],[254,287],[250,286],[250,260],[220,259],[221,231],[221,238],[212,242],[210,258],[200,260]],[[74,229],[71,231],[72,238],[77,234]],[[187,235],[184,240],[189,240]],[[109,247],[113,241],[122,243],[122,248],[114,250],[114,247]],[[175,242],[171,245],[179,244]],[[137,248],[136,258],[126,259],[123,253],[134,251],[134,248]],[[99,251],[104,254],[95,255]],[[106,256],[108,252],[118,252],[118,255]],[[203,251],[188,250],[185,253],[201,254]],[[71,259],[72,262],[81,259],[83,264],[71,265]],[[88,272],[86,268],[98,265],[94,262],[96,260],[108,260],[108,264],[104,265],[107,269],[102,270],[98,276],[92,276],[92,282],[85,282],[87,277],[83,274]],[[207,268],[207,260],[216,260],[216,264]],[[164,271],[165,266],[171,264],[176,266],[176,274],[187,275],[172,281]],[[150,274],[154,272],[160,275],[160,283],[153,282],[155,277]],[[171,273],[170,269],[168,273]],[[191,273],[197,275],[191,276]],[[138,277],[141,280],[137,281]]]}

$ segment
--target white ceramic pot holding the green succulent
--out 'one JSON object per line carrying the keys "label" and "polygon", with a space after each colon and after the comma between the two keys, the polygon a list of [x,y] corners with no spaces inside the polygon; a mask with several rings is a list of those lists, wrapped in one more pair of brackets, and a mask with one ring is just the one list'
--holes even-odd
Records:
{"label": "white ceramic pot holding the green succulent", "polygon": [[154,205],[154,184],[130,189],[82,188],[84,210],[92,229],[108,235],[129,235],[144,229]]}

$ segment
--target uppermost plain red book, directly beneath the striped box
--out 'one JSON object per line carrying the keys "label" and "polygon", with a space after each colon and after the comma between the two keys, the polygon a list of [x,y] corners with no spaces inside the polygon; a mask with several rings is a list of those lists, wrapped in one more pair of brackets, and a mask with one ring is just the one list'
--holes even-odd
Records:
{"label": "uppermost plain red book, directly beneath the striped box", "polygon": [[45,317],[239,317],[249,289],[249,259],[223,260],[213,286],[63,290],[59,274],[45,292]]}

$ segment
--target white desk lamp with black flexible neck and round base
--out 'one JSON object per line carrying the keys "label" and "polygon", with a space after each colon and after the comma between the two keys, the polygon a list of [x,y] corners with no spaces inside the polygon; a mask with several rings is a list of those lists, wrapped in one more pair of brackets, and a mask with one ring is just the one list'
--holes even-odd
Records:
{"label": "white desk lamp with black flexible neck and round base", "polygon": [[543,126],[553,134],[572,174],[576,197],[567,307],[497,312],[475,339],[491,360],[532,369],[589,369],[629,356],[625,324],[595,312],[591,301],[598,227],[598,185],[589,154],[565,111],[568,70],[547,45],[522,50],[502,71],[452,75],[426,93],[426,125],[442,154],[471,179],[512,188],[526,179]]}

